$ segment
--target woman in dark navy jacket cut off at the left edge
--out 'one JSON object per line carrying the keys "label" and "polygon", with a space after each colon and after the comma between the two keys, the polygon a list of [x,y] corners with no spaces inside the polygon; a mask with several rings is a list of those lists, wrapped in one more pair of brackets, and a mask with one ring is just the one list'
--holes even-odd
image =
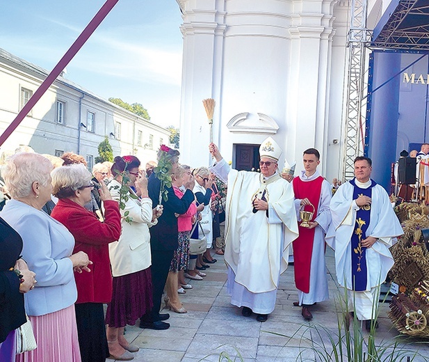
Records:
{"label": "woman in dark navy jacket cut off at the left edge", "polygon": [[[15,362],[15,329],[26,322],[24,294],[34,288],[35,274],[19,259],[22,239],[0,219],[0,361]],[[19,259],[19,260],[18,260]]]}

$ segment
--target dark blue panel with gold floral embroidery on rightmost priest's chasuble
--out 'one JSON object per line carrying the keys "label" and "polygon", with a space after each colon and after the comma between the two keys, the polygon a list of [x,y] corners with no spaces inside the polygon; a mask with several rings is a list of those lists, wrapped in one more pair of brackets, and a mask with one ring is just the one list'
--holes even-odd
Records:
{"label": "dark blue panel with gold floral embroidery on rightmost priest's chasuble", "polygon": [[[355,179],[350,181],[353,184],[353,200],[360,195],[372,195],[372,189],[377,184],[371,180],[371,186],[368,189],[361,189],[355,183]],[[366,239],[366,230],[371,221],[371,205],[362,206],[357,210],[355,228],[352,234],[352,281],[353,290],[362,292],[366,290],[366,248],[362,246],[362,240]]]}

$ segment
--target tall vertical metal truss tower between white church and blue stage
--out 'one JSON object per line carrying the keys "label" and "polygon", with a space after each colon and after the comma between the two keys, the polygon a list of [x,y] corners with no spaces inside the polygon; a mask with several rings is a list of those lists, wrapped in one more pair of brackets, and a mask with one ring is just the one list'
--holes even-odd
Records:
{"label": "tall vertical metal truss tower between white church and blue stage", "polygon": [[354,175],[353,161],[364,150],[366,46],[372,31],[366,28],[367,0],[352,0],[348,31],[348,77],[346,88],[346,130],[344,134],[343,180]]}

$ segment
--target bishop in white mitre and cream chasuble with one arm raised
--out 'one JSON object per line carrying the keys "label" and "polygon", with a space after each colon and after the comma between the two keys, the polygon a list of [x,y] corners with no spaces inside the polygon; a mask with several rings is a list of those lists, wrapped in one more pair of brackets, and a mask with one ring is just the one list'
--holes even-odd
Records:
{"label": "bishop in white mitre and cream chasuble with one arm raised", "polygon": [[289,247],[298,237],[291,184],[277,172],[280,146],[268,137],[259,148],[261,173],[236,171],[211,143],[211,171],[227,182],[225,262],[227,289],[242,314],[264,322],[273,312]]}

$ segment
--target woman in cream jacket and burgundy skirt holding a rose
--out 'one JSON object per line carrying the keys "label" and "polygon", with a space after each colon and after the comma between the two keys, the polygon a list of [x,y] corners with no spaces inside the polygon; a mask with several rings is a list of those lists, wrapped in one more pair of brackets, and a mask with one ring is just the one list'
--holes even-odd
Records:
{"label": "woman in cream jacket and burgundy skirt holding a rose", "polygon": [[129,352],[138,351],[124,338],[124,326],[135,324],[152,307],[149,226],[162,214],[162,208],[152,210],[147,178],[139,175],[138,166],[135,156],[115,157],[115,178],[108,184],[112,197],[122,205],[122,234],[109,245],[113,297],[106,311],[108,350],[120,360],[133,359]]}

